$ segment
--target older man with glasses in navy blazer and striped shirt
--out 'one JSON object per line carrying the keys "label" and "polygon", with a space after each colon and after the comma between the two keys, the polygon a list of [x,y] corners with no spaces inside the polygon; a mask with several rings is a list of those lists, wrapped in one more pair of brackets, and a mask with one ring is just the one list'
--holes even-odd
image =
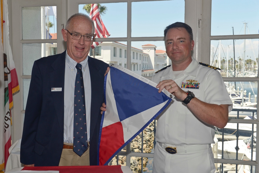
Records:
{"label": "older man with glasses in navy blazer and striped shirt", "polygon": [[[96,37],[94,33],[89,16],[77,13],[68,19],[66,29],[62,29],[67,50],[34,62],[21,140],[20,161],[25,166],[97,165],[100,106],[104,101],[104,74],[109,65],[88,56]],[[82,65],[84,77],[89,144],[82,156],[73,152],[77,63]]]}

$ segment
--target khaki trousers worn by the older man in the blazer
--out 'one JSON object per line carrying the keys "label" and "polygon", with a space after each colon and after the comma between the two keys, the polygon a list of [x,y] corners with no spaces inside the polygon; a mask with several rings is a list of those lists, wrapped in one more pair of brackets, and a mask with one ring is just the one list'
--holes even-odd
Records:
{"label": "khaki trousers worn by the older man in the blazer", "polygon": [[[73,146],[73,143],[64,143],[66,145]],[[89,148],[90,144],[88,142],[88,149],[80,157],[78,156],[73,149],[64,149],[62,150],[61,158],[59,161],[59,166],[89,166],[90,157],[89,157]]]}

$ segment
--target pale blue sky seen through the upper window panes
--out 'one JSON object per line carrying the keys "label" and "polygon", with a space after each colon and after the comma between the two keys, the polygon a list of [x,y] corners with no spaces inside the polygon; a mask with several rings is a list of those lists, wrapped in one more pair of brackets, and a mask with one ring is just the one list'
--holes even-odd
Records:
{"label": "pale blue sky seen through the upper window panes", "polygon": [[[184,0],[132,2],[132,37],[163,36],[166,26],[174,22],[184,22],[184,4]],[[102,5],[107,7],[106,14],[101,18],[111,34],[110,37],[126,37],[127,3],[102,3]],[[163,7],[163,10],[158,10],[158,7]],[[211,35],[232,35],[233,30],[235,35],[244,34],[244,23],[246,23],[246,34],[258,34],[258,7],[258,0],[212,0]],[[86,13],[83,4],[78,6],[78,11]],[[132,47],[142,49],[141,45],[144,44],[154,44],[157,50],[165,50],[163,41],[137,41],[132,42]],[[258,39],[247,39],[245,51],[243,39],[235,40],[234,44],[236,57],[245,56],[245,59],[252,60],[258,58]],[[211,42],[211,54],[212,52],[217,56],[219,40]],[[233,40],[221,41],[221,57],[226,57],[227,52],[233,57]]]}

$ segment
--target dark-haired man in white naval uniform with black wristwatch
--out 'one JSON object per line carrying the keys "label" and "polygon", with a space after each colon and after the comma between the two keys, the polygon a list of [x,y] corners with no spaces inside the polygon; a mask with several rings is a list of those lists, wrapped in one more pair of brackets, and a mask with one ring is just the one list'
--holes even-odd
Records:
{"label": "dark-haired man in white naval uniform with black wristwatch", "polygon": [[153,173],[214,173],[214,126],[226,126],[232,101],[220,73],[192,58],[189,25],[167,26],[164,40],[172,65],[157,72],[153,81],[159,83],[159,92],[166,88],[175,99],[157,117]]}

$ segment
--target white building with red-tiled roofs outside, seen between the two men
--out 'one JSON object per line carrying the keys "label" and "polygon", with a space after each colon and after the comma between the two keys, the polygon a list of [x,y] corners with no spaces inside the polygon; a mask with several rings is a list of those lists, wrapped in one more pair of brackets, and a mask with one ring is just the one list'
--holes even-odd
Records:
{"label": "white building with red-tiled roofs outside, seen between the two men", "polygon": [[[131,47],[131,70],[142,76],[153,76],[154,72],[168,65],[166,53],[156,54],[156,46],[142,45],[142,49]],[[95,47],[95,58],[107,64],[117,64],[127,68],[127,45],[116,42],[102,42]],[[165,51],[164,51],[165,52]],[[89,56],[93,56],[92,49]]]}

